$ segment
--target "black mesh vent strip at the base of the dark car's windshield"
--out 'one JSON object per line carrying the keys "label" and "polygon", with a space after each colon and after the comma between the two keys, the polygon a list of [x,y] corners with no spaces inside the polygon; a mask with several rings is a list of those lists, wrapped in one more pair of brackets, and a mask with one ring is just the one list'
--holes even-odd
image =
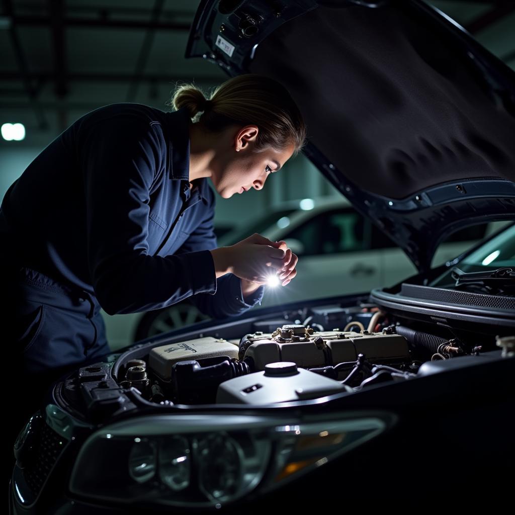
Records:
{"label": "black mesh vent strip at the base of the dark car's windshield", "polygon": [[455,291],[445,288],[432,288],[415,284],[403,284],[401,295],[415,299],[433,300],[462,306],[487,307],[497,310],[515,310],[515,297]]}

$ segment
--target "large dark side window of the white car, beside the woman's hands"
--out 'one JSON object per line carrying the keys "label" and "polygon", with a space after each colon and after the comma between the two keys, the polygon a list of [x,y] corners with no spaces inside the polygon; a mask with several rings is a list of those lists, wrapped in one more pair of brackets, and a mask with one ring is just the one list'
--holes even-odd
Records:
{"label": "large dark side window of the white car, beside the woman's hands", "polygon": [[320,213],[283,239],[297,239],[302,255],[353,252],[369,248],[364,218],[353,209]]}

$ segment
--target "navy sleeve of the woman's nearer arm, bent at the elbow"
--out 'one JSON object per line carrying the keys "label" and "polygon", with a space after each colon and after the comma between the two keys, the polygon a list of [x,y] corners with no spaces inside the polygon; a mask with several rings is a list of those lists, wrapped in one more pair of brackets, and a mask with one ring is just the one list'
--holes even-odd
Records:
{"label": "navy sleeve of the woman's nearer arm, bent at the elbow", "polygon": [[86,258],[97,299],[110,315],[155,310],[217,289],[209,250],[148,254],[149,190],[166,165],[156,125],[114,115],[80,129]]}

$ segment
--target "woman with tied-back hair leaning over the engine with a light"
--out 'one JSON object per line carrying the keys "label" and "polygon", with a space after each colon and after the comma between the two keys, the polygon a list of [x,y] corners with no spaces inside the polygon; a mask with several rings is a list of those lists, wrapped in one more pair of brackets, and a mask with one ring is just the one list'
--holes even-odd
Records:
{"label": "woman with tied-back hair leaning over the engine with a light", "polygon": [[295,277],[297,256],[284,242],[254,234],[216,248],[207,184],[222,198],[261,190],[299,151],[305,126],[288,92],[244,75],[209,99],[183,86],[173,106],[92,111],[9,188],[0,209],[12,299],[4,327],[14,328],[11,348],[28,374],[55,376],[108,353],[100,307],[132,313],[192,297],[223,317],[260,302],[270,272],[283,285]]}

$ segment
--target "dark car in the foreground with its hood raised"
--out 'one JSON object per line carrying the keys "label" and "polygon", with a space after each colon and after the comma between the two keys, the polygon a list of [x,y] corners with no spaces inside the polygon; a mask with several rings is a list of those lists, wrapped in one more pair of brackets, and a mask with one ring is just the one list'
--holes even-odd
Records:
{"label": "dark car in the foreground with its hood raised", "polygon": [[[305,155],[416,273],[200,322],[39,384],[10,512],[506,509],[513,72],[419,1],[207,0],[186,55],[283,82]],[[431,266],[448,234],[493,221],[511,224]]]}

